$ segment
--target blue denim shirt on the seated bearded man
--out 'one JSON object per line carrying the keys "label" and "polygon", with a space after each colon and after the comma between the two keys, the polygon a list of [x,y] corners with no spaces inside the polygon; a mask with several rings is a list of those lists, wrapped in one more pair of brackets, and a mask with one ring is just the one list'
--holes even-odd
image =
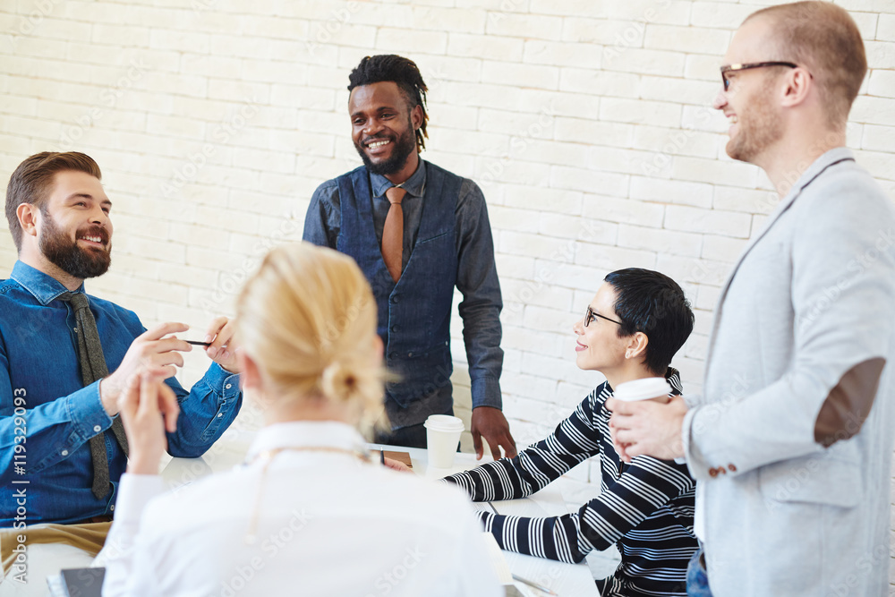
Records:
{"label": "blue denim shirt on the seated bearded man", "polygon": [[[0,282],[0,527],[70,523],[115,510],[127,459],[106,434],[113,488],[97,499],[88,441],[112,418],[99,400],[99,381],[83,387],[74,311],[57,300],[64,292],[55,278],[21,261]],[[108,370],[115,371],[146,328],[132,311],[88,299]],[[167,384],[181,408],[177,431],[167,434],[168,452],[201,456],[239,412],[239,376],[213,363],[191,392],[174,378]]]}

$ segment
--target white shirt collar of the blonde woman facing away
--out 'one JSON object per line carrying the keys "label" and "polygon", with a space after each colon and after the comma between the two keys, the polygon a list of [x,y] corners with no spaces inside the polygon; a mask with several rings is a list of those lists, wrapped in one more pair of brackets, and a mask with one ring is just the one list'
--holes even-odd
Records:
{"label": "white shirt collar of the blonde woman facing away", "polygon": [[366,442],[354,427],[337,421],[278,422],[262,428],[247,460],[276,448],[338,448],[364,452]]}

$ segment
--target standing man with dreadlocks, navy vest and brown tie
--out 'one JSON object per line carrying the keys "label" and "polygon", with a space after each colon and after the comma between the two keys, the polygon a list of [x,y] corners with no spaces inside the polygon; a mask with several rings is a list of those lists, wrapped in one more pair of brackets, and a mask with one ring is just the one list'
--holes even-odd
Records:
{"label": "standing man with dreadlocks, navy vest and brown tie", "polygon": [[362,59],[348,77],[348,113],[363,166],[311,198],[304,240],[354,257],[379,305],[379,337],[399,379],[386,388],[391,433],[377,440],[425,448],[423,422],[453,414],[450,316],[454,287],[472,381],[473,443],[516,456],[500,411],[500,285],[482,191],[420,158],[426,84],[398,55]]}

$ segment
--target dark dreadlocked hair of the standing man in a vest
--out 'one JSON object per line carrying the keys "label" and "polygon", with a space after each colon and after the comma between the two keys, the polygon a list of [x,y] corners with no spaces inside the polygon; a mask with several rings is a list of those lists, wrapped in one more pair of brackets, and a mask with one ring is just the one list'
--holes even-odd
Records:
{"label": "dark dreadlocked hair of the standing man in a vest", "polygon": [[408,109],[419,106],[422,109],[422,125],[416,130],[416,150],[426,149],[426,123],[429,122],[429,114],[426,112],[426,87],[422,81],[422,74],[416,63],[410,58],[396,54],[380,54],[365,56],[361,63],[354,67],[354,71],[348,75],[348,91],[362,85],[371,85],[381,81],[392,81],[401,90]]}

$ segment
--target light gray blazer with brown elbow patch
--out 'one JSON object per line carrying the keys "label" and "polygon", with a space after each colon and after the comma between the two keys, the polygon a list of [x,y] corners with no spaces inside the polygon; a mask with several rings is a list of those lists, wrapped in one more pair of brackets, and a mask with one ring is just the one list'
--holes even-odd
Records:
{"label": "light gray blazer with brown elbow patch", "polygon": [[887,593],[893,359],[895,209],[832,149],[740,256],[688,400],[712,593]]}

